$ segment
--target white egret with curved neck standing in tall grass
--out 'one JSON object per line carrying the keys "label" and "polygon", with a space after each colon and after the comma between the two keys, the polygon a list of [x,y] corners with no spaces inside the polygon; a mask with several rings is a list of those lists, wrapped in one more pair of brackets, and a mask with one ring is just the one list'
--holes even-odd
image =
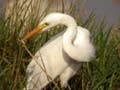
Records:
{"label": "white egret with curved neck standing in tall grass", "polygon": [[[80,68],[80,62],[89,62],[95,56],[95,49],[90,41],[90,32],[77,26],[74,18],[67,14],[51,13],[47,15],[38,27],[22,40],[25,41],[36,33],[46,31],[58,24],[65,25],[67,29],[50,39],[35,54],[35,58],[32,59],[26,70],[28,73],[27,90],[40,90],[57,76],[60,76],[61,86],[66,87],[68,80]],[[39,65],[45,67],[52,80],[48,80]]]}

